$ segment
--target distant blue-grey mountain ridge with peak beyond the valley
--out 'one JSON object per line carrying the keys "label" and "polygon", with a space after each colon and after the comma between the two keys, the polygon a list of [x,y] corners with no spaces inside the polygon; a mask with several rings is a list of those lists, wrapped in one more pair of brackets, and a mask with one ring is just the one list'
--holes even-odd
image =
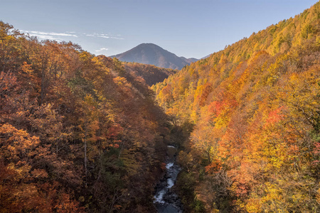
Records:
{"label": "distant blue-grey mountain ridge with peak beyond the valley", "polygon": [[184,66],[198,60],[196,58],[178,57],[174,53],[170,53],[168,50],[164,50],[153,43],[142,43],[127,52],[110,57],[124,62],[138,62],[174,70],[181,70]]}

